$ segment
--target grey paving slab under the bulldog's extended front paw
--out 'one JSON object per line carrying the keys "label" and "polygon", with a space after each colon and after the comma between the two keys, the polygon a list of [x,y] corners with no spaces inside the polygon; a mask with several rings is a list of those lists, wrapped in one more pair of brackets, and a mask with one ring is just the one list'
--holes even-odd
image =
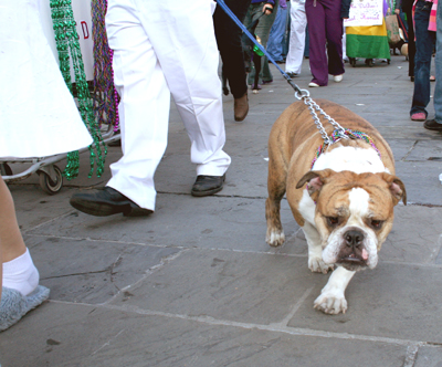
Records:
{"label": "grey paving slab under the bulldog's extended front paw", "polygon": [[375,270],[359,272],[346,291],[347,313],[334,316],[313,312],[326,281],[324,276],[288,326],[442,343],[442,318],[436,316],[442,302],[441,268],[381,262]]}

